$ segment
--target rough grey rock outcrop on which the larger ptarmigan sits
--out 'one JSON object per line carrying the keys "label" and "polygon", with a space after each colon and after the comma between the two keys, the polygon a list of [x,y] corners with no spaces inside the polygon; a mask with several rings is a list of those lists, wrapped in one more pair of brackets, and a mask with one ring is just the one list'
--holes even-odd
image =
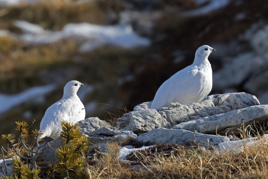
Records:
{"label": "rough grey rock outcrop on which the larger ptarmigan sits", "polygon": [[247,93],[211,95],[204,98],[200,103],[185,105],[169,103],[158,110],[150,109],[151,102],[146,102],[137,105],[134,111],[117,119],[117,125],[122,130],[130,130],[136,134],[141,134],[155,128],[165,127],[169,129],[181,122],[218,115],[258,104],[258,99]]}

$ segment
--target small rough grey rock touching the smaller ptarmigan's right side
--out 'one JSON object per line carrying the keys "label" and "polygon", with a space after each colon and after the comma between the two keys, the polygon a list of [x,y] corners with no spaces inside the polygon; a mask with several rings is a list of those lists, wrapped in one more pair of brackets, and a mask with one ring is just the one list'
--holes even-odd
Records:
{"label": "small rough grey rock touching the smaller ptarmigan's right side", "polygon": [[95,131],[96,129],[101,129],[102,127],[110,127],[111,125],[104,120],[99,118],[87,118],[85,120],[80,120],[77,122],[81,127],[80,132],[82,134],[87,134]]}

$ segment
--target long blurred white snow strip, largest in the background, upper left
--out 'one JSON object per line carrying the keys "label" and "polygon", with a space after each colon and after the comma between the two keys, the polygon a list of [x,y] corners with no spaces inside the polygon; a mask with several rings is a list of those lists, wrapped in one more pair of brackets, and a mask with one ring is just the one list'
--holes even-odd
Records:
{"label": "long blurred white snow strip, largest in the background, upper left", "polygon": [[43,30],[38,25],[25,21],[15,21],[14,25],[25,32],[20,36],[20,39],[24,42],[46,44],[72,38],[83,43],[80,47],[81,52],[92,51],[103,44],[124,48],[150,45],[150,40],[136,34],[131,25],[67,24],[61,31],[57,32]]}

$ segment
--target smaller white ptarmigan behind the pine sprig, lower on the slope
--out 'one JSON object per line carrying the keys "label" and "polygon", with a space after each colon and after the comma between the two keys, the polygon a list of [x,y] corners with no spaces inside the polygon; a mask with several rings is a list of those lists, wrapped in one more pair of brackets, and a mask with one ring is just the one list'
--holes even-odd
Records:
{"label": "smaller white ptarmigan behind the pine sprig, lower on the slope", "polygon": [[76,123],[85,119],[85,107],[77,96],[77,91],[83,86],[79,81],[70,81],[64,87],[63,97],[58,102],[47,108],[40,123],[43,137],[56,139],[61,132],[61,122]]}

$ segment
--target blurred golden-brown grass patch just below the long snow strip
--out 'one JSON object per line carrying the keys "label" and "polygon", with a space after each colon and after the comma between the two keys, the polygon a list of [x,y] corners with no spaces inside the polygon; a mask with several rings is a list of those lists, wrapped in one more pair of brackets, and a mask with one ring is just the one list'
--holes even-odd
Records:
{"label": "blurred golden-brown grass patch just below the long snow strip", "polygon": [[70,54],[76,51],[76,43],[72,40],[29,46],[8,37],[0,37],[0,44],[0,76],[4,79],[14,73],[32,74],[40,67],[69,59]]}

